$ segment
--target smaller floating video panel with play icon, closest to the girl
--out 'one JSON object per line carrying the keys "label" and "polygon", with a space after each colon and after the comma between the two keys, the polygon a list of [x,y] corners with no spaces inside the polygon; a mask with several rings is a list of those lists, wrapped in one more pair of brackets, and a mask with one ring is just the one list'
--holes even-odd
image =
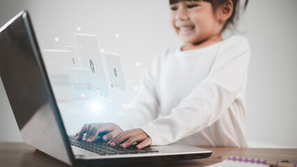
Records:
{"label": "smaller floating video panel with play icon, closest to the girl", "polygon": [[127,86],[124,72],[122,70],[120,55],[104,53],[104,57],[107,71],[109,72],[109,79],[111,80],[111,88],[127,93]]}

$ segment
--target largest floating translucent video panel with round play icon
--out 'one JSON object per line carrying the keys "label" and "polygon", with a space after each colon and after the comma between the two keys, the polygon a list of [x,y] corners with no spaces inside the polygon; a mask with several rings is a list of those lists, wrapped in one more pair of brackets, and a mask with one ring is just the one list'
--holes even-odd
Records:
{"label": "largest floating translucent video panel with round play icon", "polygon": [[111,100],[97,35],[76,33],[74,36],[87,90],[106,100]]}

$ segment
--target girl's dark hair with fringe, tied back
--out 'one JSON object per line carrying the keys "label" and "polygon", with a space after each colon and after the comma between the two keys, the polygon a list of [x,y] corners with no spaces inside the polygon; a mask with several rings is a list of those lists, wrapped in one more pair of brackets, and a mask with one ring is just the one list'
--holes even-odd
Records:
{"label": "girl's dark hair with fringe, tied back", "polygon": [[[211,3],[211,6],[214,12],[216,12],[219,6],[223,5],[229,0],[169,0],[169,3],[170,5],[172,5],[180,1],[207,1]],[[237,21],[237,19],[239,18],[239,0],[232,0],[232,3],[233,3],[233,13],[230,16],[230,18],[227,19],[227,21],[225,22],[225,25],[223,26],[222,31],[224,31],[226,27],[229,26],[230,24],[235,25],[235,21]],[[246,6],[248,6],[248,0],[245,1],[243,5],[243,10],[246,10]]]}

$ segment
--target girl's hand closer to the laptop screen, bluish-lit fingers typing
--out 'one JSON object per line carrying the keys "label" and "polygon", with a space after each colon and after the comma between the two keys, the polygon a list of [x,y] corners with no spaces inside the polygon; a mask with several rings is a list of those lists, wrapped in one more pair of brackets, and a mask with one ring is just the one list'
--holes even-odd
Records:
{"label": "girl's hand closer to the laptop screen, bluish-lit fingers typing", "polygon": [[83,138],[83,134],[86,133],[86,137],[83,138],[83,141],[92,142],[102,132],[107,132],[102,139],[104,141],[111,140],[114,138],[118,133],[122,132],[122,129],[113,123],[93,123],[93,124],[86,124],[83,125],[81,131],[77,133],[77,139],[81,140]]}

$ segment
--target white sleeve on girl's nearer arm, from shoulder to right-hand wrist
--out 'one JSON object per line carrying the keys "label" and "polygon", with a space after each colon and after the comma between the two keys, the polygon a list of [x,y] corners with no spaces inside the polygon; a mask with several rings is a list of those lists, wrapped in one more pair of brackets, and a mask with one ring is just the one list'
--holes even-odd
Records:
{"label": "white sleeve on girl's nearer arm, from shoulder to right-hand wrist", "polygon": [[172,109],[170,115],[141,127],[152,138],[152,145],[174,143],[216,122],[238,96],[248,73],[249,60],[246,38],[220,47],[207,78]]}

